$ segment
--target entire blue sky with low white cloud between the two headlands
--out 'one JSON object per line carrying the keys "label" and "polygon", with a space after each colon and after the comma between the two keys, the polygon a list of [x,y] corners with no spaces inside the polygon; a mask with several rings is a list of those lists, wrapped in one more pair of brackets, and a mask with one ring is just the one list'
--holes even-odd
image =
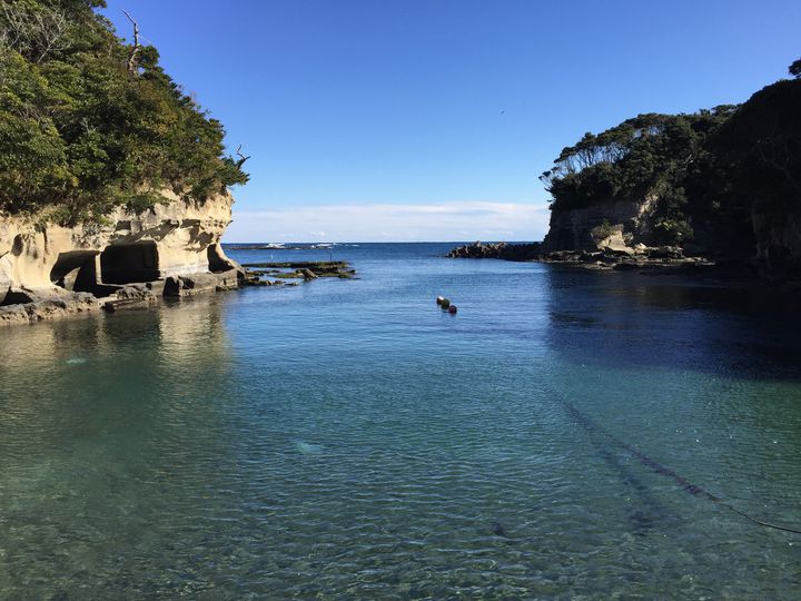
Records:
{"label": "entire blue sky with low white cloud between the two headlands", "polygon": [[740,102],[801,2],[108,0],[251,159],[228,242],[541,239],[585,131]]}

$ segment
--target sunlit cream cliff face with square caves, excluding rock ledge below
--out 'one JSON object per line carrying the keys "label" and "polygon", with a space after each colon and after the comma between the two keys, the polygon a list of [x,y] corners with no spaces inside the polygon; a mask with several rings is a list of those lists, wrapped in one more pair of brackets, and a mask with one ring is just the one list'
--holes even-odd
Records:
{"label": "sunlit cream cliff face with square caves, excluding rock ledge below", "polygon": [[136,282],[222,274],[238,266],[219,243],[231,221],[230,193],[200,203],[165,193],[165,204],[141,214],[117,209],[105,225],[37,227],[0,215],[0,305],[31,292],[38,298],[67,289],[116,294]]}

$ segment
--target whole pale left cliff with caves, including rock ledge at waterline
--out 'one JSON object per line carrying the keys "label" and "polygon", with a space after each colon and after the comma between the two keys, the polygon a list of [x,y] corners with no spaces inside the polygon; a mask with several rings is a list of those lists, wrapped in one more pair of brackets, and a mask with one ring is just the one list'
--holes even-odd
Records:
{"label": "whole pale left cliff with caves, including rock ledge at waterline", "polygon": [[0,216],[0,323],[92,311],[95,299],[113,306],[236,287],[240,268],[220,247],[233,201],[229,193],[205,201],[165,193],[152,209],[118,208],[71,228]]}

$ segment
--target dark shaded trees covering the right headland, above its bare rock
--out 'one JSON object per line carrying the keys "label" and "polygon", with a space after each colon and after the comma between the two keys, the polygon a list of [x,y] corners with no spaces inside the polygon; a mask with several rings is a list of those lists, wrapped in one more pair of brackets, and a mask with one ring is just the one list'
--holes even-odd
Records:
{"label": "dark shaded trees covering the right headland, above its bare rock", "polygon": [[541,179],[552,210],[650,199],[661,244],[749,236],[750,215],[801,210],[801,59],[742,106],[640,115],[562,150]]}

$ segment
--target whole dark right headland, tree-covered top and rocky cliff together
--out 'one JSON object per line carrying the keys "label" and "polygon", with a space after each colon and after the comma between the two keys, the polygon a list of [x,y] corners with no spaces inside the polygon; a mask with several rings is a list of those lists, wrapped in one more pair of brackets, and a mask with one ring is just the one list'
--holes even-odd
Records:
{"label": "whole dark right headland, tree-covered top and rocky cliff together", "polygon": [[770,279],[801,280],[801,71],[742,105],[644,114],[566,147],[543,250],[681,247]]}

